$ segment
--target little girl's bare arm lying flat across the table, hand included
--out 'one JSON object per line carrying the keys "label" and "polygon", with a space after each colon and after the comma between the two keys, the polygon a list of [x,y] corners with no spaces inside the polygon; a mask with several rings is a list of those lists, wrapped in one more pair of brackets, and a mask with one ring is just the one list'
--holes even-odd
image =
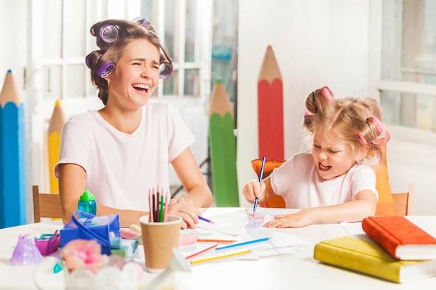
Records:
{"label": "little girl's bare arm lying flat across the table, hand included", "polygon": [[340,223],[360,221],[375,214],[377,198],[373,191],[364,190],[356,195],[356,200],[327,207],[311,207],[293,214],[279,215],[265,227],[304,227],[314,222]]}

